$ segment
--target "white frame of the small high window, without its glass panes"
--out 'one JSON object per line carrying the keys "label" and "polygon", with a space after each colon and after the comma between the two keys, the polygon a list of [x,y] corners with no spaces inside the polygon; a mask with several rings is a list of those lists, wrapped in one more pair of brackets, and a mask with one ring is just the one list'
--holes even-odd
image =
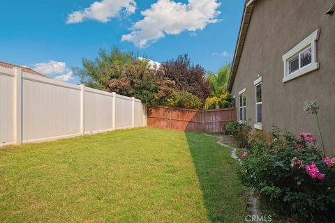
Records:
{"label": "white frame of the small high window, without its glass panes", "polygon": [[[317,59],[317,41],[320,36],[320,29],[315,30],[311,35],[302,40],[298,45],[290,49],[286,54],[283,55],[284,63],[284,77],[283,83],[300,77],[301,75],[306,75],[308,72],[317,70],[319,68],[319,63]],[[300,54],[306,49],[311,48],[312,62],[301,68],[300,66]],[[292,59],[299,56],[299,69],[295,72],[289,72],[289,64]]]}

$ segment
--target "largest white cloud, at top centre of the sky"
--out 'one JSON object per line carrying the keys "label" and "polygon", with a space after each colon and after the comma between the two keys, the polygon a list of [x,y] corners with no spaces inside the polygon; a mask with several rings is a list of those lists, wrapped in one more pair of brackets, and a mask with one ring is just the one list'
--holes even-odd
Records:
{"label": "largest white cloud, at top centre of the sky", "polygon": [[144,18],[133,25],[130,34],[122,36],[122,41],[146,47],[165,35],[202,30],[207,24],[218,22],[220,4],[217,0],[188,0],[187,4],[158,0],[141,12]]}

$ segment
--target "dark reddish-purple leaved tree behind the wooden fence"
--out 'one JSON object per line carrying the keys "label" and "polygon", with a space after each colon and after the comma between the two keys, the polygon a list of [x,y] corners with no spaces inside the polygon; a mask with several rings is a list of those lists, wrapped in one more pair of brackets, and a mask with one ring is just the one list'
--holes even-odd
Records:
{"label": "dark reddish-purple leaved tree behind the wooden fence", "polygon": [[211,94],[211,88],[204,79],[204,68],[191,63],[187,54],[162,63],[161,69],[163,77],[176,83],[174,90],[187,91],[201,98],[203,102]]}

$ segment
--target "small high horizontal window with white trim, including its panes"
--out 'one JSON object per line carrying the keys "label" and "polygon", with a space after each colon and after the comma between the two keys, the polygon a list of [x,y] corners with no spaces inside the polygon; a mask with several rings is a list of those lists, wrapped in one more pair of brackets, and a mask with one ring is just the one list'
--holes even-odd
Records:
{"label": "small high horizontal window with white trim, including its panes", "polygon": [[308,72],[319,68],[317,61],[317,44],[320,29],[315,30],[311,35],[301,41],[283,55],[284,77],[283,82],[305,75]]}

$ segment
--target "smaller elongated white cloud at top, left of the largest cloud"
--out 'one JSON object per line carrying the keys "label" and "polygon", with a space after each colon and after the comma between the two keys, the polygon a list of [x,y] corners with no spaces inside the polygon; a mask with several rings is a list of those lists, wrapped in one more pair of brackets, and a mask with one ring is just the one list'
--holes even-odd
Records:
{"label": "smaller elongated white cloud at top, left of the largest cloud", "polygon": [[109,22],[112,17],[117,17],[121,12],[133,14],[135,10],[136,3],[134,0],[94,1],[89,8],[70,13],[66,24],[79,23],[84,20]]}

